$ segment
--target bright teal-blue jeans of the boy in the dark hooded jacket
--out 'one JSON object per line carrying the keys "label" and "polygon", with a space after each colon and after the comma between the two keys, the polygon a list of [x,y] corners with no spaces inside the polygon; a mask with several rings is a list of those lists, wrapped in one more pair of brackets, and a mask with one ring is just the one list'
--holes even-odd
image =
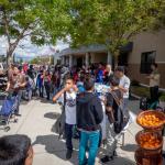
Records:
{"label": "bright teal-blue jeans of the boy in the dark hooded jacket", "polygon": [[95,165],[95,158],[98,152],[100,132],[80,132],[80,143],[79,143],[79,165],[86,163],[86,150],[89,143],[89,157],[88,165]]}

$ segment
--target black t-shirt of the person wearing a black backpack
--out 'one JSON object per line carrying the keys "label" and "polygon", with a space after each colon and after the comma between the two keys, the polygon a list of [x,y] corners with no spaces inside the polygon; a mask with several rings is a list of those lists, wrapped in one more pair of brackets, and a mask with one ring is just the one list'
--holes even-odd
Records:
{"label": "black t-shirt of the person wearing a black backpack", "polygon": [[[122,92],[120,91],[120,89],[113,90],[112,92],[114,92],[116,97],[118,97],[119,100],[122,99]],[[108,94],[107,96],[107,107],[111,107],[114,113],[114,119],[117,119],[117,111],[118,111],[118,103],[116,102],[111,92]]]}

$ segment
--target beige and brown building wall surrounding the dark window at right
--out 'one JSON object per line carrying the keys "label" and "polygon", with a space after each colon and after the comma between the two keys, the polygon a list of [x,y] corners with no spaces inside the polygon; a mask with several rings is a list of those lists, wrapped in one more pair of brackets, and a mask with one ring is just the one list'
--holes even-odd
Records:
{"label": "beige and brown building wall surrounding the dark window at right", "polygon": [[156,51],[156,63],[161,73],[161,87],[165,88],[165,30],[155,33],[141,33],[133,38],[133,51],[129,55],[128,74],[131,79],[136,79],[148,85],[145,74],[140,73],[141,54]]}

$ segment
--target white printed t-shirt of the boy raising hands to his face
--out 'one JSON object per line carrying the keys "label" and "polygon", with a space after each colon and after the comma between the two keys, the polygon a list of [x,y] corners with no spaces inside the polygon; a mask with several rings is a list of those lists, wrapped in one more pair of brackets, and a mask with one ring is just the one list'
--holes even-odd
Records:
{"label": "white printed t-shirt of the boy raising hands to his face", "polygon": [[[61,97],[64,105],[64,95]],[[67,124],[76,124],[76,92],[66,92],[65,114]]]}

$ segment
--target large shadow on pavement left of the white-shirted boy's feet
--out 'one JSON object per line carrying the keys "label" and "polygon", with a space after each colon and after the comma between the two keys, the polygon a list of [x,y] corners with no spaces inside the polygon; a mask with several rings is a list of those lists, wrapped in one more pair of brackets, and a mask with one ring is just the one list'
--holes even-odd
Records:
{"label": "large shadow on pavement left of the white-shirted boy's feet", "polygon": [[[38,135],[36,136],[35,142],[32,144],[33,147],[36,144],[45,145],[45,150],[47,153],[54,154],[58,158],[67,161],[65,157],[65,154],[66,154],[65,142],[62,140],[58,140],[58,135],[55,135],[55,134]],[[78,152],[74,151],[73,157],[69,160],[69,162],[73,163],[74,165],[78,164],[77,155],[78,155]]]}

